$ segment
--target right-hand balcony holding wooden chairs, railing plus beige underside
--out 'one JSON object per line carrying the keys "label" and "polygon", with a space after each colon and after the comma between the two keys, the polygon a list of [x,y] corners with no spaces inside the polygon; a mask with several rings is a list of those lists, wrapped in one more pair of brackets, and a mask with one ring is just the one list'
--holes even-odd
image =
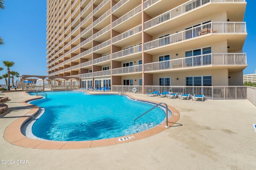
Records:
{"label": "right-hand balcony holding wooden chairs, railing plus beige underside", "polygon": [[[170,51],[177,44],[182,46],[204,45],[212,43],[213,39],[214,41],[228,40],[228,45],[232,45],[234,49],[241,49],[246,35],[245,22],[210,22],[144,43],[144,51],[149,54],[157,54]],[[193,41],[188,41],[190,39]]]}

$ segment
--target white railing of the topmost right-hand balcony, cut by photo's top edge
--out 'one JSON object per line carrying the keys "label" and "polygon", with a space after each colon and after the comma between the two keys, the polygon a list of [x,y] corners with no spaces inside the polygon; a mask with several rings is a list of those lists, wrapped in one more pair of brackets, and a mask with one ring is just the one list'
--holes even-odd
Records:
{"label": "white railing of the topmost right-hand balcony, cut by photo's top edge", "polygon": [[174,8],[168,12],[165,12],[164,14],[161,14],[160,16],[157,16],[151,20],[146,21],[144,23],[144,29],[148,29],[148,28],[158,25],[164,21],[171,20],[172,18],[175,18],[175,17],[185,14],[187,12],[190,12],[191,10],[194,10],[196,8],[200,8],[201,6],[203,6],[205,4],[210,4],[211,2],[232,2],[232,3],[238,2],[238,3],[240,3],[240,2],[245,2],[245,0],[190,0],[180,6],[177,6],[176,8]]}

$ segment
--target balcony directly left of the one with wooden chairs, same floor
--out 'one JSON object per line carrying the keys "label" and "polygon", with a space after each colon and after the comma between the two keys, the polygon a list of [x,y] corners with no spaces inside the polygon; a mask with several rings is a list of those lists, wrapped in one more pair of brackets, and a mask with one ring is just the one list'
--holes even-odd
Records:
{"label": "balcony directly left of the one with wooden chairs, same floor", "polygon": [[124,59],[120,59],[120,58],[123,58],[126,56],[129,56],[129,59],[141,57],[141,52],[142,52],[142,45],[134,46],[134,47],[113,53],[112,60],[122,61]]}

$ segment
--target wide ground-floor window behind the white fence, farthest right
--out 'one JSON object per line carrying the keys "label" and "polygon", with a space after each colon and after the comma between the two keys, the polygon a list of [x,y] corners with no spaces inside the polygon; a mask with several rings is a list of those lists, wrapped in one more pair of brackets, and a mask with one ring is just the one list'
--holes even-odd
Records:
{"label": "wide ground-floor window behind the white fence, farthest right", "polygon": [[212,86],[212,76],[188,76],[186,86]]}

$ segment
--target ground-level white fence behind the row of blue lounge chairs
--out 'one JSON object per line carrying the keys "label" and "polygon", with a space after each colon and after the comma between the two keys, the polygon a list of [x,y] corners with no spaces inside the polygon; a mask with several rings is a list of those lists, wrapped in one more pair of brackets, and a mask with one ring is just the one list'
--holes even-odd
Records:
{"label": "ground-level white fence behind the row of blue lounge chairs", "polygon": [[208,99],[246,99],[246,86],[144,86],[144,93],[154,91],[205,95]]}

